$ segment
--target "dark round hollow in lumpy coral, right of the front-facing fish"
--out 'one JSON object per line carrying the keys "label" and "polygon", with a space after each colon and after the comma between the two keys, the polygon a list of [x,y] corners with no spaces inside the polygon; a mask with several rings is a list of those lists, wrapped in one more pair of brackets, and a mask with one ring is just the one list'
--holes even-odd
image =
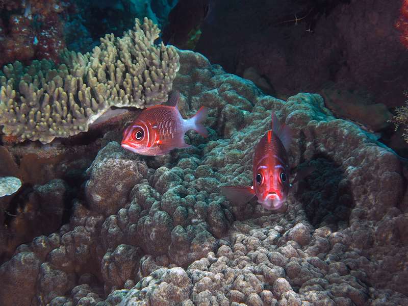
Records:
{"label": "dark round hollow in lumpy coral, right of the front-facing fish", "polygon": [[348,227],[354,203],[343,170],[325,156],[315,156],[310,164],[315,171],[299,181],[295,194],[303,203],[309,222],[316,228],[327,226],[332,231]]}

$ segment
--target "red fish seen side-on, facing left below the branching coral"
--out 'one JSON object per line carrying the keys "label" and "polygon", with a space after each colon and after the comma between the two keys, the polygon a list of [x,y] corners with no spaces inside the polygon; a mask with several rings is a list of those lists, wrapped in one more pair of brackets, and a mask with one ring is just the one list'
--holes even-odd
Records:
{"label": "red fish seen side-on, facing left below the branching coral", "polygon": [[197,131],[208,137],[202,124],[207,118],[207,108],[201,107],[197,113],[183,119],[177,103],[180,92],[173,93],[167,105],[157,105],[145,109],[136,120],[123,131],[122,147],[137,154],[164,155],[174,148],[187,148],[184,134],[189,130]]}

